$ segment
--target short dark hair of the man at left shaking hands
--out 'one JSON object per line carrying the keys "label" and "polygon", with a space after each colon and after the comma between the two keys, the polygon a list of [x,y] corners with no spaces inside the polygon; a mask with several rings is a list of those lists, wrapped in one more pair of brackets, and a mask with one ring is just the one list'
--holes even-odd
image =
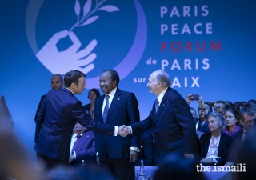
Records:
{"label": "short dark hair of the man at left shaking hands", "polygon": [[64,84],[66,87],[70,87],[72,83],[75,85],[78,85],[79,78],[85,77],[86,74],[84,74],[82,71],[79,70],[70,70],[65,74],[64,77]]}

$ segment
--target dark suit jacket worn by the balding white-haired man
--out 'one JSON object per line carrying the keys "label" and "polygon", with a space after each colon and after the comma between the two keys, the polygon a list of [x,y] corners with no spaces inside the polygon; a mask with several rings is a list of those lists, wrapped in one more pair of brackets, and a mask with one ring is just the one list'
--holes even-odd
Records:
{"label": "dark suit jacket worn by the balding white-haired man", "polygon": [[146,120],[131,125],[133,134],[137,135],[150,128],[153,129],[160,159],[172,154],[194,154],[197,148],[195,122],[186,101],[176,90],[168,87],[162,102],[155,113],[155,102]]}

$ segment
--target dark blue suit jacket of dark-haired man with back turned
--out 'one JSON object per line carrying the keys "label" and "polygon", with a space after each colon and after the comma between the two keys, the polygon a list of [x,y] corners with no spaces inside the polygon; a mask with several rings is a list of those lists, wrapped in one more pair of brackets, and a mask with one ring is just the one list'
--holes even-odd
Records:
{"label": "dark blue suit jacket of dark-haired man with back turned", "polygon": [[34,150],[49,158],[68,162],[70,136],[76,122],[98,133],[114,134],[114,126],[93,122],[83,110],[82,102],[70,90],[50,90],[38,113]]}

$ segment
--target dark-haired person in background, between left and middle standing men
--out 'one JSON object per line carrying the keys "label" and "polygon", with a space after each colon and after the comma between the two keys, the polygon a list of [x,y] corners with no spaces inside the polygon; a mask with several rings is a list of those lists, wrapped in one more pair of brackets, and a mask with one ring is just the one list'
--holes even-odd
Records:
{"label": "dark-haired person in background, between left and middle standing men", "polygon": [[90,99],[90,103],[83,106],[86,113],[90,114],[92,119],[94,119],[94,102],[95,102],[95,99],[98,97],[100,97],[100,94],[97,89],[94,88],[89,90],[88,98]]}

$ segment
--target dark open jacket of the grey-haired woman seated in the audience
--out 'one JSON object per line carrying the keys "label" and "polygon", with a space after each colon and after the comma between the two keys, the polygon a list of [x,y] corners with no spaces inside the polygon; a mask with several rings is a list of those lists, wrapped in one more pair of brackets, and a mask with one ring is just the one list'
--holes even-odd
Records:
{"label": "dark open jacket of the grey-haired woman seated in the audience", "polygon": [[[211,133],[202,134],[200,138],[201,147],[202,147],[202,158],[206,158],[209,145],[210,145],[210,138],[211,138]],[[218,161],[218,165],[224,165],[226,163],[228,152],[230,149],[231,139],[232,138],[230,135],[227,135],[222,132],[221,139],[219,141],[219,146],[218,146],[218,157],[221,157],[221,158],[216,158],[216,160]]]}

